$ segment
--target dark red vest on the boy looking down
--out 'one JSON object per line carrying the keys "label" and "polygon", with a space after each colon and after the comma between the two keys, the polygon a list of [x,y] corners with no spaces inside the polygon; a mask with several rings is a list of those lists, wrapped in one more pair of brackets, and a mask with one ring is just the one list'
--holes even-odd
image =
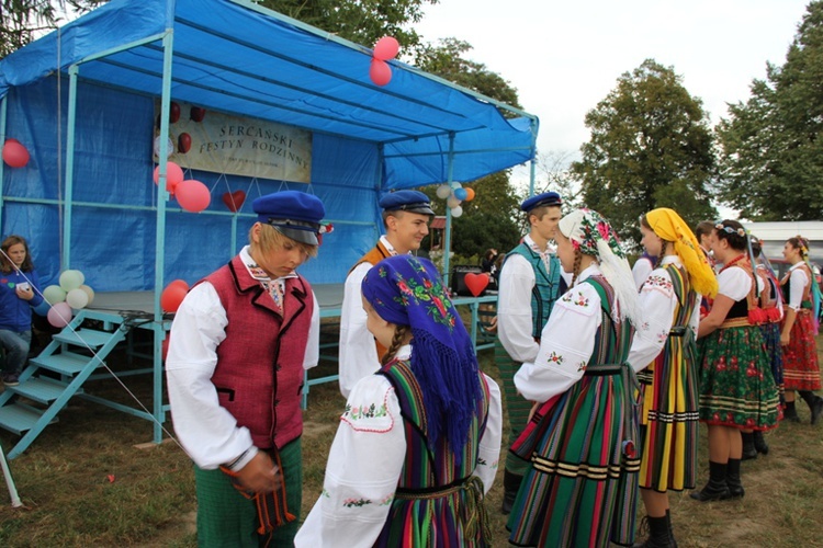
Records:
{"label": "dark red vest on the boy looking down", "polygon": [[205,281],[226,310],[212,383],[219,404],[251,432],[255,445],[283,447],[303,433],[303,359],[314,296],[303,276],[288,278],[285,317],[239,255]]}

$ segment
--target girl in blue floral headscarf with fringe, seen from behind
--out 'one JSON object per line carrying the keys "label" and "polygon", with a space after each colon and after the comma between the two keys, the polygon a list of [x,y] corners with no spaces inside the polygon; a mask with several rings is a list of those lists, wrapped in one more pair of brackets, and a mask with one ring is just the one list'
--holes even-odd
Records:
{"label": "girl in blue floral headscarf with fringe, seen from behind", "polygon": [[361,288],[367,327],[388,350],[349,395],[295,545],[488,546],[500,390],[430,261],[390,256]]}

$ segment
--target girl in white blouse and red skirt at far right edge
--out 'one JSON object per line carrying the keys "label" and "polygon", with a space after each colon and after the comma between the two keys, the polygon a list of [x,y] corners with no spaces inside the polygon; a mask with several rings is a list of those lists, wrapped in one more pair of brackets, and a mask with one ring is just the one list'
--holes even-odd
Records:
{"label": "girl in white blouse and red skirt at far right edge", "polygon": [[786,297],[786,317],[780,332],[786,385],[785,418],[800,422],[794,408],[797,391],[811,410],[812,424],[816,424],[823,414],[823,398],[812,392],[821,388],[818,344],[814,340],[818,333],[815,300],[820,306],[820,288],[809,265],[809,242],[805,238],[789,238],[783,246],[783,256],[791,263],[789,272],[780,281]]}

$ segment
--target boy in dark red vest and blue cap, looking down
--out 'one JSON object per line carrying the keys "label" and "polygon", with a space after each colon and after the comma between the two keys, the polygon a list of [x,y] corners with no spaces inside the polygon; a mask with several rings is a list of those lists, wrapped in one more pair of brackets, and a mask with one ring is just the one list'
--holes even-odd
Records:
{"label": "boy in dark red vest and blue cap, looking down", "polygon": [[296,191],[252,207],[249,246],[183,299],[166,359],[174,432],[196,465],[201,546],[291,546],[300,521],[319,306],[295,270],[317,254],[325,209]]}

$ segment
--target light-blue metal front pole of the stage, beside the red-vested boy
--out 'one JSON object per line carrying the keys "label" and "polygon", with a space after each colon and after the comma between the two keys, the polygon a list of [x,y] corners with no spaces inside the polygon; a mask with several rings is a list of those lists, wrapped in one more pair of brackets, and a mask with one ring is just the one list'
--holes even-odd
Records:
{"label": "light-blue metal front pole of the stage, beside the red-vested boy", "polygon": [[[173,2],[171,2],[173,4]],[[173,5],[171,8],[173,10]],[[162,308],[160,307],[160,296],[164,288],[164,274],[166,270],[166,202],[169,199],[169,193],[166,190],[166,162],[168,159],[169,144],[169,113],[171,112],[171,65],[174,55],[173,33],[167,31],[162,37],[164,57],[162,57],[162,92],[160,95],[160,150],[159,150],[159,169],[157,184],[157,230],[155,237],[155,347],[154,347],[154,401],[153,412],[155,415],[154,423],[154,442],[162,442],[162,423],[165,422],[165,411],[162,406],[162,343],[166,339],[166,327],[162,319]]]}

